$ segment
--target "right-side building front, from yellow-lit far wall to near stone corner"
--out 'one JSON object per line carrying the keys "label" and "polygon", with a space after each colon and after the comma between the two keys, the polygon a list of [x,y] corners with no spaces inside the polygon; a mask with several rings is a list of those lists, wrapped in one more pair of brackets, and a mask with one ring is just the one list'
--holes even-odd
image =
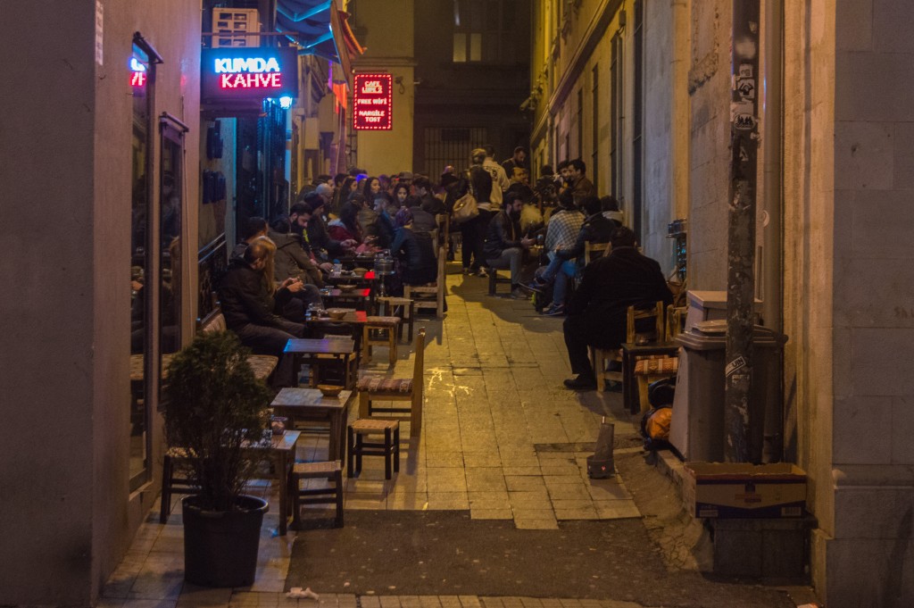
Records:
{"label": "right-side building front, from yellow-lit far wall to near stone corner", "polygon": [[[687,285],[726,290],[732,3],[534,9],[534,165],[580,157]],[[914,46],[903,0],[762,0],[756,291],[784,348],[782,457],[809,478],[829,606],[914,603],[908,246]]]}

